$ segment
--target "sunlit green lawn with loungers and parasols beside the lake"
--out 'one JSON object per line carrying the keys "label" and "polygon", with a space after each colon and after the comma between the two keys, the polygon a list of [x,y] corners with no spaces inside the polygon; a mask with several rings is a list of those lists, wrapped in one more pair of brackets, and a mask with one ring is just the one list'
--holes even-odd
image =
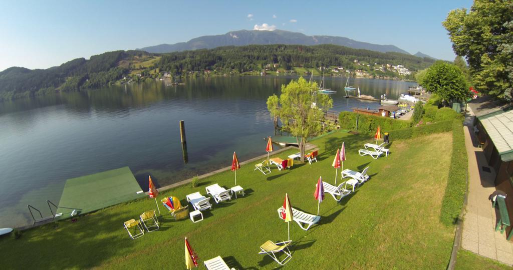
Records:
{"label": "sunlit green lawn with loungers and parasols beside the lake", "polygon": [[[0,239],[2,268],[180,269],[184,266],[186,236],[200,257],[201,268],[203,260],[218,255],[237,269],[277,267],[258,251],[266,240],[287,238],[287,225],[277,213],[285,193],[293,207],[316,213],[315,183],[319,176],[334,181],[331,162],[342,141],[347,152],[344,168],[370,166],[371,179],[339,203],[326,194],[320,224],[309,231],[301,230],[295,222],[290,224],[292,260],[285,267],[445,268],[454,236],[454,227],[440,222],[450,155],[436,154],[440,152],[435,150],[450,153],[451,134],[392,141],[391,155],[378,160],[358,155],[358,149],[369,140],[350,133],[324,136],[312,142],[320,149],[319,162],[294,164],[285,171],[274,167],[267,176],[254,172],[254,163],[243,165],[237,172],[237,183],[245,188],[245,197],[214,205],[199,223],[174,221],[164,215],[160,231],[136,240],[128,237],[122,224],[154,209],[153,199],[116,205],[80,217],[75,223],[64,220],[37,227],[17,240],[4,237]],[[278,156],[284,158],[293,152]],[[203,179],[198,188],[182,186],[159,197],[174,195],[185,204],[186,194],[205,194],[205,186],[212,183],[233,186],[233,172]]]}

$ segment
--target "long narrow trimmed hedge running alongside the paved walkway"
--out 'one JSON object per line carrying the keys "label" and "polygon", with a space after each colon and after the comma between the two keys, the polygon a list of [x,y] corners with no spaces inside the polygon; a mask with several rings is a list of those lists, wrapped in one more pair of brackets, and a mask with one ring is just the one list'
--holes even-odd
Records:
{"label": "long narrow trimmed hedge running alongside the paved walkway", "polygon": [[449,167],[449,178],[442,200],[440,220],[445,225],[453,225],[460,216],[465,192],[467,190],[467,150],[465,148],[465,134],[463,122],[452,121],[452,155]]}

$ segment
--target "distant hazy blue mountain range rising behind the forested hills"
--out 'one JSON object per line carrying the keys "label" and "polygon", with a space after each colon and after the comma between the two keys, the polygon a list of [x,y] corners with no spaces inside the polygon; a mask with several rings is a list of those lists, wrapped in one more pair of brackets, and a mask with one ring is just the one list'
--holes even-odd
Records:
{"label": "distant hazy blue mountain range rising behind the forested hills", "polygon": [[[313,35],[289,32],[283,30],[259,31],[239,30],[230,31],[223,35],[208,35],[193,38],[187,42],[175,44],[161,44],[144,47],[137,50],[150,53],[169,53],[186,50],[213,49],[222,46],[245,46],[245,45],[269,45],[269,44],[293,44],[293,45],[321,45],[333,44],[346,46],[353,49],[365,49],[378,52],[399,52],[410,54],[407,51],[394,45],[378,45],[353,40],[342,36]],[[420,52],[419,52],[420,53]],[[421,56],[424,57],[424,56]],[[428,56],[430,57],[430,56]],[[432,57],[430,57],[432,58]]]}

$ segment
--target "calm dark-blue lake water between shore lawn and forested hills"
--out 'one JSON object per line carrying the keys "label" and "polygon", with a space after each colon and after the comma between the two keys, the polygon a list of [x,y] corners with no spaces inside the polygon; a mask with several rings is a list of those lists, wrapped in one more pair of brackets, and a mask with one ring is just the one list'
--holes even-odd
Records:
{"label": "calm dark-blue lake water between shore lawn and forested hills", "polygon": [[[146,190],[265,154],[273,134],[266,100],[295,77],[215,77],[113,86],[0,103],[0,227],[31,223],[27,204],[50,215],[66,179],[129,166]],[[320,78],[314,78],[320,81]],[[377,108],[344,98],[346,78],[326,78],[339,90],[333,109]],[[362,94],[397,98],[411,82],[354,79]],[[185,120],[188,163],[179,121]]]}

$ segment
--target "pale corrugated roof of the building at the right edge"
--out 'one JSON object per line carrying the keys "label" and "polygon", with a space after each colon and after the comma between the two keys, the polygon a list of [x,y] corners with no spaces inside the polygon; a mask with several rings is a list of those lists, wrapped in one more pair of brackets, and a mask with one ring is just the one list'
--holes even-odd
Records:
{"label": "pale corrugated roof of the building at the right edge", "polygon": [[481,119],[499,154],[513,151],[513,111]]}

